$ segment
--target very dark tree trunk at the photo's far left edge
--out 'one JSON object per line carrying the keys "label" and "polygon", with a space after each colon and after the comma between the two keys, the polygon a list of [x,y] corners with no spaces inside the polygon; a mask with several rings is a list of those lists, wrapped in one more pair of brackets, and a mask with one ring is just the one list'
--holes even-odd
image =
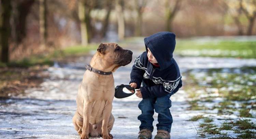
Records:
{"label": "very dark tree trunk at the photo's far left edge", "polygon": [[1,62],[9,62],[9,37],[11,34],[11,0],[1,0],[1,18],[0,18],[0,45],[1,49]]}

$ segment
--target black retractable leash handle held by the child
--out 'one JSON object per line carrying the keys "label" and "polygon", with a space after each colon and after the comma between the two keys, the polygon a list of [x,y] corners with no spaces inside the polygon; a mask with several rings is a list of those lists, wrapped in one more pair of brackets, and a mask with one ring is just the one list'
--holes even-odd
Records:
{"label": "black retractable leash handle held by the child", "polygon": [[130,85],[118,85],[115,87],[115,97],[117,99],[122,99],[122,98],[127,98],[131,95],[133,95],[134,93],[126,93],[123,91],[123,88],[127,88],[129,90],[133,90],[135,93],[135,89],[133,87],[131,87]]}

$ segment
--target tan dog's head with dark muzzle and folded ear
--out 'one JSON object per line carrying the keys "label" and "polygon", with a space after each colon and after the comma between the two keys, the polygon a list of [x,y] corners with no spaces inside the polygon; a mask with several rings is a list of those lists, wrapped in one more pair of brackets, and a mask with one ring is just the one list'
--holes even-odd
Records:
{"label": "tan dog's head with dark muzzle and folded ear", "polygon": [[125,50],[115,43],[100,44],[97,51],[102,55],[102,58],[110,64],[125,66],[132,60],[132,51]]}

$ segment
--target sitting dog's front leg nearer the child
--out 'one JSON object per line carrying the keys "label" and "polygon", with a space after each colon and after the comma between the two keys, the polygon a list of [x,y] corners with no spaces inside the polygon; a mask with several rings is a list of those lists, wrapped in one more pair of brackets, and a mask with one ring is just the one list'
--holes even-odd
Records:
{"label": "sitting dog's front leg nearer the child", "polygon": [[103,139],[112,139],[112,135],[108,133],[109,117],[111,115],[112,103],[106,105],[102,111],[102,137]]}

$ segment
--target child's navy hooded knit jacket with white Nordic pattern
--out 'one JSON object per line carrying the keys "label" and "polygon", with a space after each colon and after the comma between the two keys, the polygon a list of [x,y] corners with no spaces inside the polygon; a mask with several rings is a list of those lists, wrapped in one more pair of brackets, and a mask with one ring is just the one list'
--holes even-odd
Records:
{"label": "child's navy hooded knit jacket with white Nordic pattern", "polygon": [[[174,94],[182,86],[180,69],[173,58],[175,34],[159,32],[144,38],[144,42],[146,51],[135,59],[130,83],[137,83],[136,89],[141,90],[143,99]],[[148,61],[147,48],[160,67],[157,68]],[[143,82],[142,87],[140,87],[141,82]]]}

